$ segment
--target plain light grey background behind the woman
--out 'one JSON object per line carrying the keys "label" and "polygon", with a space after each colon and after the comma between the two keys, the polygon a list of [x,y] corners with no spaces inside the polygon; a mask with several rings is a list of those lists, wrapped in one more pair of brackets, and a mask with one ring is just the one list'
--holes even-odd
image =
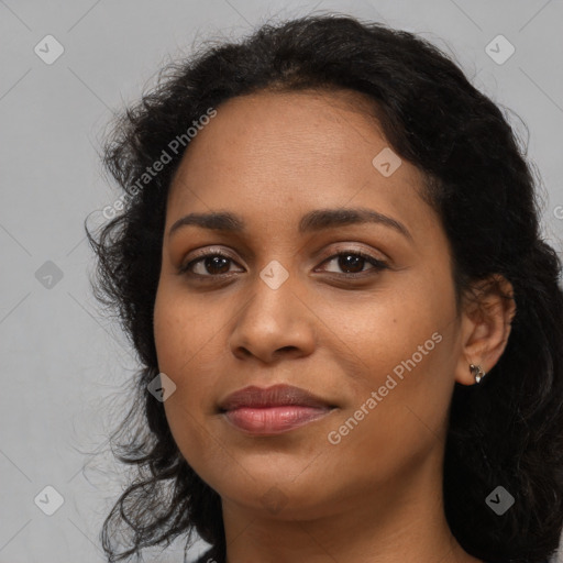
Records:
{"label": "plain light grey background behind the woman", "polygon": [[[96,152],[111,112],[194,41],[313,10],[418,32],[514,110],[543,179],[545,236],[563,247],[562,1],[0,0],[0,563],[103,561],[98,533],[124,479],[107,438],[135,361],[90,295],[82,229],[117,199]],[[48,34],[65,49],[52,65],[34,52]],[[504,64],[485,52],[498,34],[516,48]],[[34,503],[45,486],[64,497],[53,516]],[[183,561],[180,542],[165,553]]]}

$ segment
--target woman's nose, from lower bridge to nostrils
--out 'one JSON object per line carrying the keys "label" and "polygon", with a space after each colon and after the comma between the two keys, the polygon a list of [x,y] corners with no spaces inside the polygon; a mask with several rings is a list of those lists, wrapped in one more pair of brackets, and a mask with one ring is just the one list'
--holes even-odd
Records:
{"label": "woman's nose, from lower bridge to nostrils", "polygon": [[238,358],[274,363],[305,357],[314,350],[316,317],[303,298],[294,292],[290,278],[273,289],[256,276],[252,296],[238,313],[230,338]]}

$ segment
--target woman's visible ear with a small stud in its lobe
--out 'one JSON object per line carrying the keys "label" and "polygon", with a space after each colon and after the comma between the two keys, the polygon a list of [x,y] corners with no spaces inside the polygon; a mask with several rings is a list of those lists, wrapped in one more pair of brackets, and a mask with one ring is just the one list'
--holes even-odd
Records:
{"label": "woman's visible ear with a small stud in its lobe", "polygon": [[473,385],[470,364],[481,365],[488,373],[505,351],[516,314],[512,285],[499,274],[492,275],[466,292],[462,307],[462,353],[455,380]]}

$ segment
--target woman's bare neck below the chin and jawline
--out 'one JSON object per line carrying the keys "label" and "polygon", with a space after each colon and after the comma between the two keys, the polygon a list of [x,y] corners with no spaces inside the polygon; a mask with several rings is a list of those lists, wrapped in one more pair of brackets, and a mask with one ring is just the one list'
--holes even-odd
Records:
{"label": "woman's bare neck below the chin and jawline", "polygon": [[450,531],[441,478],[441,460],[427,460],[371,495],[307,511],[288,504],[277,515],[223,499],[227,563],[481,563]]}

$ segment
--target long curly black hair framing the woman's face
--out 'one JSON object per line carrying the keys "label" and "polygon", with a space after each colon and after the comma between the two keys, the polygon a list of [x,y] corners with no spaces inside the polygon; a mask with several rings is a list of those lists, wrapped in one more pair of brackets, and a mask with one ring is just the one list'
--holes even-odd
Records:
{"label": "long curly black hair framing the woman's face", "polygon": [[[166,198],[189,150],[187,142],[181,150],[170,142],[183,134],[186,141],[201,115],[220,111],[230,98],[307,89],[363,93],[393,150],[422,170],[424,197],[453,252],[456,296],[495,274],[511,283],[517,312],[504,354],[478,386],[455,384],[444,510],[452,533],[474,556],[544,560],[558,549],[563,527],[563,290],[561,260],[540,232],[540,183],[525,143],[501,109],[430,42],[325,14],[267,23],[239,42],[205,43],[168,64],[156,86],[115,119],[103,145],[123,210],[96,234],[85,224],[97,256],[91,283],[142,364],[135,400],[111,435],[119,437],[119,460],[136,473],[100,533],[109,561],[180,534],[189,543],[194,532],[213,547],[217,561],[224,559],[220,497],[187,464],[163,404],[147,391],[159,373],[153,308]],[[147,175],[165,153],[166,165]],[[485,503],[498,485],[516,497],[501,517]]]}

